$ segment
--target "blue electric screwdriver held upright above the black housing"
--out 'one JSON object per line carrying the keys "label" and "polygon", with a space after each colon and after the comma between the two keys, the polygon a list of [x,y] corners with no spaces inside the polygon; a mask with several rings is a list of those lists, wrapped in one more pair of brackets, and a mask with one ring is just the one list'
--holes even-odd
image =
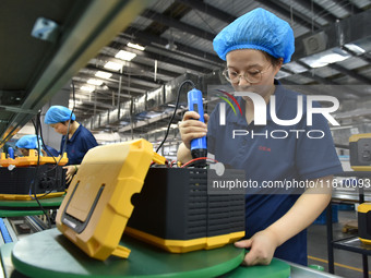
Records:
{"label": "blue electric screwdriver held upright above the black housing", "polygon": [[[200,114],[199,121],[205,122],[201,90],[193,88],[188,92],[188,109],[198,112]],[[207,156],[206,136],[191,141],[191,154],[193,158]],[[201,160],[195,165],[203,167],[205,161]]]}

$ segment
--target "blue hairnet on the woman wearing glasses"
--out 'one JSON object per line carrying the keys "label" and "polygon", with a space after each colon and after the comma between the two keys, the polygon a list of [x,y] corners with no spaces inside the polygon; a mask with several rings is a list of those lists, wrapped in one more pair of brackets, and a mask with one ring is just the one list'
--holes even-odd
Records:
{"label": "blue hairnet on the woman wearing glasses", "polygon": [[295,50],[290,25],[273,13],[258,8],[230,23],[214,38],[214,50],[226,60],[229,51],[258,49],[290,61]]}

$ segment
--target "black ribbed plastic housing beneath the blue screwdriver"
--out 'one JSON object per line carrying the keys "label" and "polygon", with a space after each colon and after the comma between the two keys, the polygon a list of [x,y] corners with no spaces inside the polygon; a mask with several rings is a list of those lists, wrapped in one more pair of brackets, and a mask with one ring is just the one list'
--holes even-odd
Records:
{"label": "black ribbed plastic housing beneath the blue screwdriver", "polygon": [[208,195],[207,171],[149,168],[127,227],[168,240],[244,231],[244,195]]}

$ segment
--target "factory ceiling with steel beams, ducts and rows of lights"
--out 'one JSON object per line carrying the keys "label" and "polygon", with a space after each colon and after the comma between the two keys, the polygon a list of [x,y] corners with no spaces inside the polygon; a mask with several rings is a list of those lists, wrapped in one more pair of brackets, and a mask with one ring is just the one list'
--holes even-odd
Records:
{"label": "factory ceiling with steel beams, ducts and rows of lights", "polygon": [[[143,135],[165,126],[182,81],[191,78],[203,90],[207,85],[225,84],[220,74],[225,64],[214,52],[212,40],[235,19],[258,7],[289,22],[295,33],[292,61],[277,75],[283,84],[306,85],[310,88],[304,92],[308,94],[321,94],[332,87],[328,94],[336,96],[340,104],[371,99],[368,86],[371,84],[370,0],[158,0],[135,1],[143,5],[136,10],[132,10],[130,3],[122,4],[134,1],[112,1],[121,4],[108,8],[121,13],[106,8],[103,19],[96,19],[92,9],[103,9],[101,2],[110,1],[26,2],[29,9],[22,9],[27,11],[27,16],[20,14],[24,1],[7,0],[1,4],[8,9],[0,11],[8,24],[0,25],[4,31],[0,32],[0,39],[7,41],[0,46],[4,61],[0,65],[3,140],[9,126],[25,124],[29,114],[35,114],[58,92],[70,94],[71,100],[74,95],[71,107],[74,105],[79,121],[93,131]],[[14,26],[15,15],[27,26],[26,31],[19,29],[20,24]],[[32,26],[41,15],[59,24],[57,39],[31,38]],[[93,22],[93,28],[80,22],[84,19]],[[88,31],[84,34],[79,27]],[[88,33],[91,28],[93,35]],[[108,28],[116,31],[116,35],[109,38]],[[70,44],[79,40],[76,36],[82,36],[82,46],[72,46],[71,53],[56,59],[60,55],[57,50],[68,47],[64,43],[69,39]],[[28,52],[35,51],[38,56],[29,59],[25,46]],[[26,52],[14,51],[21,48]],[[81,52],[83,49],[85,55]],[[16,55],[20,57],[14,57]],[[33,74],[31,67],[34,67]],[[22,78],[26,75],[27,78]],[[74,85],[74,94],[71,86],[63,87],[69,81]],[[46,84],[40,84],[43,82]],[[318,92],[313,92],[316,87]],[[180,112],[183,110],[184,104]],[[362,111],[354,118],[369,121],[371,111]]]}

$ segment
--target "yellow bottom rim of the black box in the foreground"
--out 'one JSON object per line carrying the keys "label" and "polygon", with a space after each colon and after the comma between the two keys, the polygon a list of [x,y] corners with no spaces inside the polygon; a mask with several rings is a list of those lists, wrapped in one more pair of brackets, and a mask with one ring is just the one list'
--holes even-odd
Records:
{"label": "yellow bottom rim of the black box in the foreground", "polygon": [[244,237],[244,231],[220,234],[210,238],[200,238],[192,240],[167,240],[155,237],[153,234],[127,227],[127,234],[140,239],[144,242],[156,245],[170,253],[187,253],[195,250],[211,250],[224,246],[228,243],[238,241]]}

